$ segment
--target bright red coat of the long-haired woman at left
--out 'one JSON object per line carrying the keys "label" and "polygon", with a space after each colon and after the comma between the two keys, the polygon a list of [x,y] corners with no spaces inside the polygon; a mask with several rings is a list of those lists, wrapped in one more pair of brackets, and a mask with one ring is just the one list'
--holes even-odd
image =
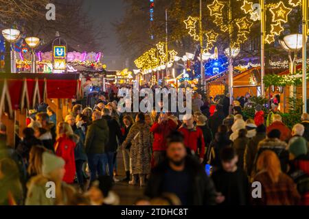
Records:
{"label": "bright red coat of the long-haired woman at left", "polygon": [[54,145],[56,155],[65,160],[65,177],[63,181],[66,183],[73,183],[76,173],[74,149],[76,143],[71,138],[61,137],[58,138]]}

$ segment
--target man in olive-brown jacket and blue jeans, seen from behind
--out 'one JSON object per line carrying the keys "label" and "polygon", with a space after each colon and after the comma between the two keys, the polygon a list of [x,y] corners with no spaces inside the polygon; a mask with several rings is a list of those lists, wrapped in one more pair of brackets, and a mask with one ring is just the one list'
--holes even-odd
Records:
{"label": "man in olive-brown jacket and blue jeans, seen from behind", "polygon": [[100,112],[93,112],[93,123],[88,127],[85,152],[88,157],[90,169],[90,181],[94,181],[98,175],[105,175],[103,164],[105,161],[105,146],[108,142],[109,129],[106,120],[102,119]]}

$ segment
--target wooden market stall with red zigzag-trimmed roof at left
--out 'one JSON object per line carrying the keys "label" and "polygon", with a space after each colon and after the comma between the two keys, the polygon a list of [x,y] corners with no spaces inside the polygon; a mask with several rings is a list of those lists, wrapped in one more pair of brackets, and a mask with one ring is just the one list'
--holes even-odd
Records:
{"label": "wooden market stall with red zigzag-trimmed roof at left", "polygon": [[81,94],[79,74],[0,74],[0,122],[7,127],[8,145],[14,146],[15,133],[21,136],[26,127],[27,110],[47,103],[58,123]]}

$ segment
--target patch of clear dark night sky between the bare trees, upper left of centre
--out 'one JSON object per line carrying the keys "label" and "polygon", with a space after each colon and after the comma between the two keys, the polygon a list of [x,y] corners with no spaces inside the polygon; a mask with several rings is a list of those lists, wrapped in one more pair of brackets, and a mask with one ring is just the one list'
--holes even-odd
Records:
{"label": "patch of clear dark night sky between the bare trees, upper left of centre", "polygon": [[124,3],[122,0],[84,0],[84,10],[90,12],[90,16],[97,23],[103,23],[106,39],[102,42],[104,55],[118,55],[117,36],[111,23],[122,18]]}

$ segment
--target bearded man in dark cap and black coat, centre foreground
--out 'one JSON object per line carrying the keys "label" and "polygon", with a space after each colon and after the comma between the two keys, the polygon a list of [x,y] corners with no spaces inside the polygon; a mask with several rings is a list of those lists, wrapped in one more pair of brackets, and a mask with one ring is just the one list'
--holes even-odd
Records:
{"label": "bearded man in dark cap and black coat, centre foreground", "polygon": [[167,158],[152,170],[145,194],[150,198],[164,192],[176,194],[182,205],[215,205],[214,183],[196,160],[187,156],[179,132],[168,138]]}

